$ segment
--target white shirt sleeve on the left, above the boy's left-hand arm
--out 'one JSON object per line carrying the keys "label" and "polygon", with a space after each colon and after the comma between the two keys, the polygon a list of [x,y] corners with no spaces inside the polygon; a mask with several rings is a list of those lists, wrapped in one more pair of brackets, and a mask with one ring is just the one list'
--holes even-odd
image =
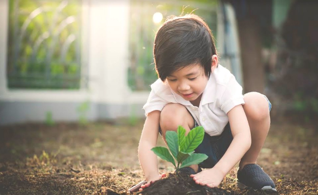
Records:
{"label": "white shirt sleeve on the left, above the boy's left-hand arm", "polygon": [[145,115],[147,116],[148,113],[159,110],[162,111],[162,108],[168,104],[167,101],[163,100],[161,97],[155,94],[153,90],[151,90],[148,100],[146,104],[143,106],[143,109],[145,110]]}

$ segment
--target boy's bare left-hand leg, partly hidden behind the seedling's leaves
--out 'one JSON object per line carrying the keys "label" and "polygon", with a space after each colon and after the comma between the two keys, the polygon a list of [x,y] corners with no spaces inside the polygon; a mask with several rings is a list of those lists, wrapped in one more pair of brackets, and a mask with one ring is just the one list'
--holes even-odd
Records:
{"label": "boy's bare left-hand leg, partly hidden behind the seedling's leaves", "polygon": [[[160,129],[164,142],[166,142],[166,131],[177,131],[181,125],[186,130],[186,135],[194,127],[194,120],[186,107],[181,104],[169,103],[163,107],[160,113]],[[190,166],[195,172],[198,171],[198,165]]]}

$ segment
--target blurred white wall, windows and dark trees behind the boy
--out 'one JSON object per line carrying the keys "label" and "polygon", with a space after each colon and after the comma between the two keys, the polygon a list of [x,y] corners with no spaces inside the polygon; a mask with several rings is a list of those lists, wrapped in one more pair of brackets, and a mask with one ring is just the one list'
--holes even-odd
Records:
{"label": "blurred white wall, windows and dark trees behind the boy", "polygon": [[[272,118],[316,125],[318,1],[2,0],[0,125],[134,122],[157,79],[152,48],[170,15],[204,18],[220,64]],[[318,132],[318,126],[316,126]]]}

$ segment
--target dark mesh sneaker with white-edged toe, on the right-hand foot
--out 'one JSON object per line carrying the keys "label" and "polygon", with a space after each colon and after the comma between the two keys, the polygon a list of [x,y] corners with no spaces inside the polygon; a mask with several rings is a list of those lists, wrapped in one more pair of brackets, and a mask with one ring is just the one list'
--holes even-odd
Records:
{"label": "dark mesh sneaker with white-edged toe, on the right-hand foot", "polygon": [[238,170],[238,183],[240,189],[251,187],[254,190],[264,190],[267,192],[277,192],[273,180],[256,164],[245,165],[242,170]]}

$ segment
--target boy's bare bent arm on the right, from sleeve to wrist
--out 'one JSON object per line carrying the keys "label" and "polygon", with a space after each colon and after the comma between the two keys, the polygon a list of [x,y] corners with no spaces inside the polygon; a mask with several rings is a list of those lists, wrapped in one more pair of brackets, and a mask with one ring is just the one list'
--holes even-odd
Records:
{"label": "boy's bare bent arm on the right, from sleeve to wrist", "polygon": [[251,131],[242,105],[228,113],[233,140],[219,162],[214,166],[224,176],[239,162],[251,146]]}

